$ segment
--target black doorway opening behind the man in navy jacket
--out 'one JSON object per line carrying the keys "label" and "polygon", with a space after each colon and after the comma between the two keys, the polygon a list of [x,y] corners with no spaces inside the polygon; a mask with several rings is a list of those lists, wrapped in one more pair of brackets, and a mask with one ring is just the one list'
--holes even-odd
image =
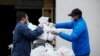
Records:
{"label": "black doorway opening behind the man in navy jacket", "polygon": [[15,9],[15,6],[0,6],[0,56],[8,56],[11,50],[8,45],[12,43],[12,31],[16,25],[16,12],[25,11],[29,16],[29,21],[38,24],[38,18],[42,15],[42,9]]}

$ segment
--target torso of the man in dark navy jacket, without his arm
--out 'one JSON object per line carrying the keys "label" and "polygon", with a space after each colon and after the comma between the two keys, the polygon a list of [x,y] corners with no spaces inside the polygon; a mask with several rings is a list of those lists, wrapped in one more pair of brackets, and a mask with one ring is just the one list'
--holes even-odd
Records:
{"label": "torso of the man in dark navy jacket, without his arm", "polygon": [[14,56],[22,56],[22,55],[30,55],[31,51],[31,41],[26,39],[25,36],[20,32],[20,26],[25,25],[22,23],[18,23],[15,27],[13,34],[13,55]]}

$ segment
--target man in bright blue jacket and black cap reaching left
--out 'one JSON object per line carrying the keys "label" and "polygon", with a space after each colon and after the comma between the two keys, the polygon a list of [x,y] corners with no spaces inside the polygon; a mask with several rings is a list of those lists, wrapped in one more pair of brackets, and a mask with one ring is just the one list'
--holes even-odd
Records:
{"label": "man in bright blue jacket and black cap reaching left", "polygon": [[52,34],[58,34],[61,38],[72,42],[72,48],[75,56],[89,56],[90,45],[86,22],[82,17],[80,9],[76,8],[69,14],[73,18],[72,22],[58,23],[56,28],[73,29],[71,35],[64,32],[51,31]]}

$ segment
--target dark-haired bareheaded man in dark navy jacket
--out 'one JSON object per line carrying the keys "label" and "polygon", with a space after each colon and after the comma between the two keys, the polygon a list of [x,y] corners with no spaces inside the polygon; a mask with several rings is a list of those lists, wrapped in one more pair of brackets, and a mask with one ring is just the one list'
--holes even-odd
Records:
{"label": "dark-haired bareheaded man in dark navy jacket", "polygon": [[28,16],[25,12],[17,13],[17,25],[13,34],[12,56],[30,56],[31,41],[37,39],[43,33],[42,25],[35,30],[30,30],[27,26]]}

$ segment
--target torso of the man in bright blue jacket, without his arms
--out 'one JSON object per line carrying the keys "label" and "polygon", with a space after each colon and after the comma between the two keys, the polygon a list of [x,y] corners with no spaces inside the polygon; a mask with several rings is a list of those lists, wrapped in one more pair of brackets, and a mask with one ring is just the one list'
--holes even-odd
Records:
{"label": "torso of the man in bright blue jacket, without his arms", "polygon": [[79,19],[74,23],[73,30],[78,23],[84,24],[85,30],[78,37],[78,39],[72,43],[73,51],[75,55],[87,54],[90,52],[88,29],[85,21],[83,19]]}

